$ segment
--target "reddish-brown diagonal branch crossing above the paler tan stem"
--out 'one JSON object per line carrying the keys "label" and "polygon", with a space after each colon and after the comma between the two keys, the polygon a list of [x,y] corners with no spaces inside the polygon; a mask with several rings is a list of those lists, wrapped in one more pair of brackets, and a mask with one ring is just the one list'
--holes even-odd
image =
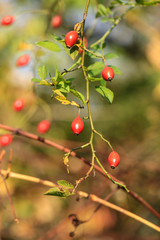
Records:
{"label": "reddish-brown diagonal branch crossing above the paler tan stem", "polygon": [[[42,142],[43,144],[46,144],[48,146],[51,146],[51,147],[54,147],[54,148],[57,148],[59,149],[60,151],[63,151],[65,153],[68,153],[71,151],[71,149],[69,148],[66,148],[60,144],[57,144],[51,140],[48,140],[46,138],[42,138],[40,136],[37,136],[33,133],[29,133],[29,132],[26,132],[26,131],[23,131],[21,129],[17,129],[17,128],[13,128],[13,127],[10,127],[10,126],[6,126],[4,124],[0,124],[0,128],[1,129],[5,129],[7,131],[10,131],[12,132],[13,134],[16,134],[16,135],[20,135],[20,136],[23,136],[23,137],[26,137],[26,138],[29,138],[29,139],[32,139],[32,140],[36,140],[36,141],[39,141],[39,142]],[[90,162],[88,162],[85,158],[83,157],[80,157],[78,156],[75,152],[71,152],[70,154],[71,156],[74,156],[78,159],[80,159],[81,161],[83,161],[85,164],[91,166]],[[101,175],[103,175],[105,178],[107,178],[106,174],[103,172],[103,170],[97,166],[97,165],[94,165],[94,168],[97,172],[99,172]],[[115,180],[116,182],[119,182],[119,183],[123,183],[122,181],[116,179],[114,176],[112,176],[110,174],[111,178],[113,180]],[[127,187],[128,188],[128,187]],[[123,188],[122,188],[123,189]],[[129,189],[129,192],[128,194],[130,194],[133,198],[135,198],[138,202],[140,202],[143,206],[145,206],[149,211],[151,211],[155,216],[157,216],[158,218],[160,218],[160,214],[149,204],[147,203],[142,197],[140,197],[137,193],[135,193],[134,191],[132,191],[130,188]]]}

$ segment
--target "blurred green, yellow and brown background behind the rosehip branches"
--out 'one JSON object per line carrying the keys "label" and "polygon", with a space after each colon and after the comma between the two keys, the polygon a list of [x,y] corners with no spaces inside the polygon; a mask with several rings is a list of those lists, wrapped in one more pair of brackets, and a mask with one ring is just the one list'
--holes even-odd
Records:
{"label": "blurred green, yellow and brown background behind the rosehip branches", "polygon": [[[51,53],[35,45],[40,40],[51,40],[51,34],[59,36],[73,29],[82,20],[85,6],[81,1],[57,1],[52,10],[52,0],[0,0],[0,16],[14,15],[16,21],[8,27],[0,26],[0,122],[26,131],[37,133],[39,121],[49,119],[50,131],[44,137],[69,148],[88,142],[90,127],[78,137],[71,131],[71,122],[77,117],[77,108],[61,105],[51,99],[48,87],[32,83],[37,77],[39,65],[46,65],[54,76],[69,68],[73,61],[65,52]],[[85,32],[91,28],[96,15],[96,4],[109,1],[91,1]],[[52,10],[52,11],[51,11]],[[123,11],[120,7],[117,11]],[[105,168],[124,181],[130,188],[160,210],[160,20],[159,6],[137,7],[127,14],[106,40],[106,53],[116,53],[119,58],[108,60],[120,68],[122,75],[116,75],[108,87],[114,91],[115,99],[109,105],[91,84],[91,111],[94,124],[121,156],[121,164],[111,170],[107,164],[109,148],[96,137],[96,152]],[[50,26],[50,18],[61,14],[63,24],[58,29]],[[109,28],[107,22],[98,18],[89,45],[100,38]],[[16,67],[17,58],[27,53],[31,62],[23,68]],[[86,64],[91,59],[87,58]],[[85,81],[82,72],[68,74],[75,77],[74,86],[85,95]],[[17,98],[26,102],[23,111],[15,113],[12,105]],[[87,116],[86,109],[81,116]],[[0,129],[0,134],[5,133]],[[13,149],[12,171],[57,182],[66,179],[75,184],[84,176],[87,167],[78,159],[70,158],[70,174],[63,164],[63,153],[40,143],[15,136],[13,143],[5,148],[6,154],[1,168],[6,169],[10,149]],[[1,147],[2,150],[2,147]],[[90,160],[88,148],[78,151]],[[3,183],[0,185],[0,238],[2,240],[70,239],[74,230],[68,215],[76,213],[80,219],[87,219],[95,204],[87,200],[76,201],[76,197],[59,199],[44,196],[47,187],[16,179],[8,179],[14,208],[19,224],[13,216]],[[104,198],[115,186],[98,173],[79,186],[79,190],[94,193]],[[111,202],[124,207],[158,225],[157,218],[141,204],[119,190]],[[45,235],[49,231],[48,235]],[[57,232],[56,232],[57,231]],[[158,233],[122,214],[102,207],[87,224],[77,228],[74,239],[106,240],[158,240]],[[44,238],[43,238],[44,237]]]}

